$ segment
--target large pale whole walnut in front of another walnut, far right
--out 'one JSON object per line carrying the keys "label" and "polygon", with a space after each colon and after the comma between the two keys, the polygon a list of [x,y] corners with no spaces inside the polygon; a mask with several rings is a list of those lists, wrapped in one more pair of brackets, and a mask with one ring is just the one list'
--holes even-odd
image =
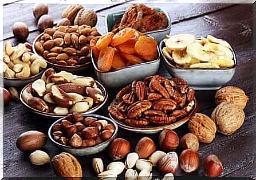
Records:
{"label": "large pale whole walnut in front of another walnut, far right", "polygon": [[220,103],[211,114],[218,132],[230,135],[237,131],[245,121],[245,112],[238,105],[229,102]]}

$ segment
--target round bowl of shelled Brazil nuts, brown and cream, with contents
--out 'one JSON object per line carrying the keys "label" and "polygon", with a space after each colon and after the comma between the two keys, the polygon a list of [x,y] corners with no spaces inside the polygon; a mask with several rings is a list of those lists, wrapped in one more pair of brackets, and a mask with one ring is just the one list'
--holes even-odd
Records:
{"label": "round bowl of shelled Brazil nuts, brown and cream, with contents", "polygon": [[48,118],[60,118],[77,112],[96,112],[107,101],[105,87],[92,77],[47,69],[41,79],[27,84],[19,100],[30,111]]}

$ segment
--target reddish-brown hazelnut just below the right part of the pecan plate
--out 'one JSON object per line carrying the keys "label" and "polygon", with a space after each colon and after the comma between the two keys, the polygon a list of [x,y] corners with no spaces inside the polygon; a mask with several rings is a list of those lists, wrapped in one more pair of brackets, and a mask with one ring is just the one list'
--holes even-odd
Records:
{"label": "reddish-brown hazelnut just below the right part of the pecan plate", "polygon": [[164,129],[159,135],[160,148],[170,152],[176,150],[179,146],[179,137],[171,129]]}

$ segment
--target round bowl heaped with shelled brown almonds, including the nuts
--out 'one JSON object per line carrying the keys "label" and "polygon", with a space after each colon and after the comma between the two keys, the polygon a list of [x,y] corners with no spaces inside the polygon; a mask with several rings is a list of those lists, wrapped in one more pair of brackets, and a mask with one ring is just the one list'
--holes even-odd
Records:
{"label": "round bowl heaped with shelled brown almonds, including the nuts", "polygon": [[33,42],[33,51],[42,56],[49,67],[76,72],[90,67],[90,40],[98,40],[95,27],[59,26],[46,28]]}

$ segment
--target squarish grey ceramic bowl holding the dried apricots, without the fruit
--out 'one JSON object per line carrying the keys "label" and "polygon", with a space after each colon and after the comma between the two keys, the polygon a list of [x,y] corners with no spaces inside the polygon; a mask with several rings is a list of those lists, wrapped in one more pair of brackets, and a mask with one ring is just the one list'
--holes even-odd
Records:
{"label": "squarish grey ceramic bowl holding the dried apricots, without the fruit", "polygon": [[101,83],[109,88],[116,88],[129,84],[135,79],[143,79],[144,77],[155,75],[160,66],[160,52],[158,47],[157,52],[159,55],[156,60],[123,67],[109,72],[103,72],[98,69],[94,61],[93,53],[92,64],[97,78]]}

